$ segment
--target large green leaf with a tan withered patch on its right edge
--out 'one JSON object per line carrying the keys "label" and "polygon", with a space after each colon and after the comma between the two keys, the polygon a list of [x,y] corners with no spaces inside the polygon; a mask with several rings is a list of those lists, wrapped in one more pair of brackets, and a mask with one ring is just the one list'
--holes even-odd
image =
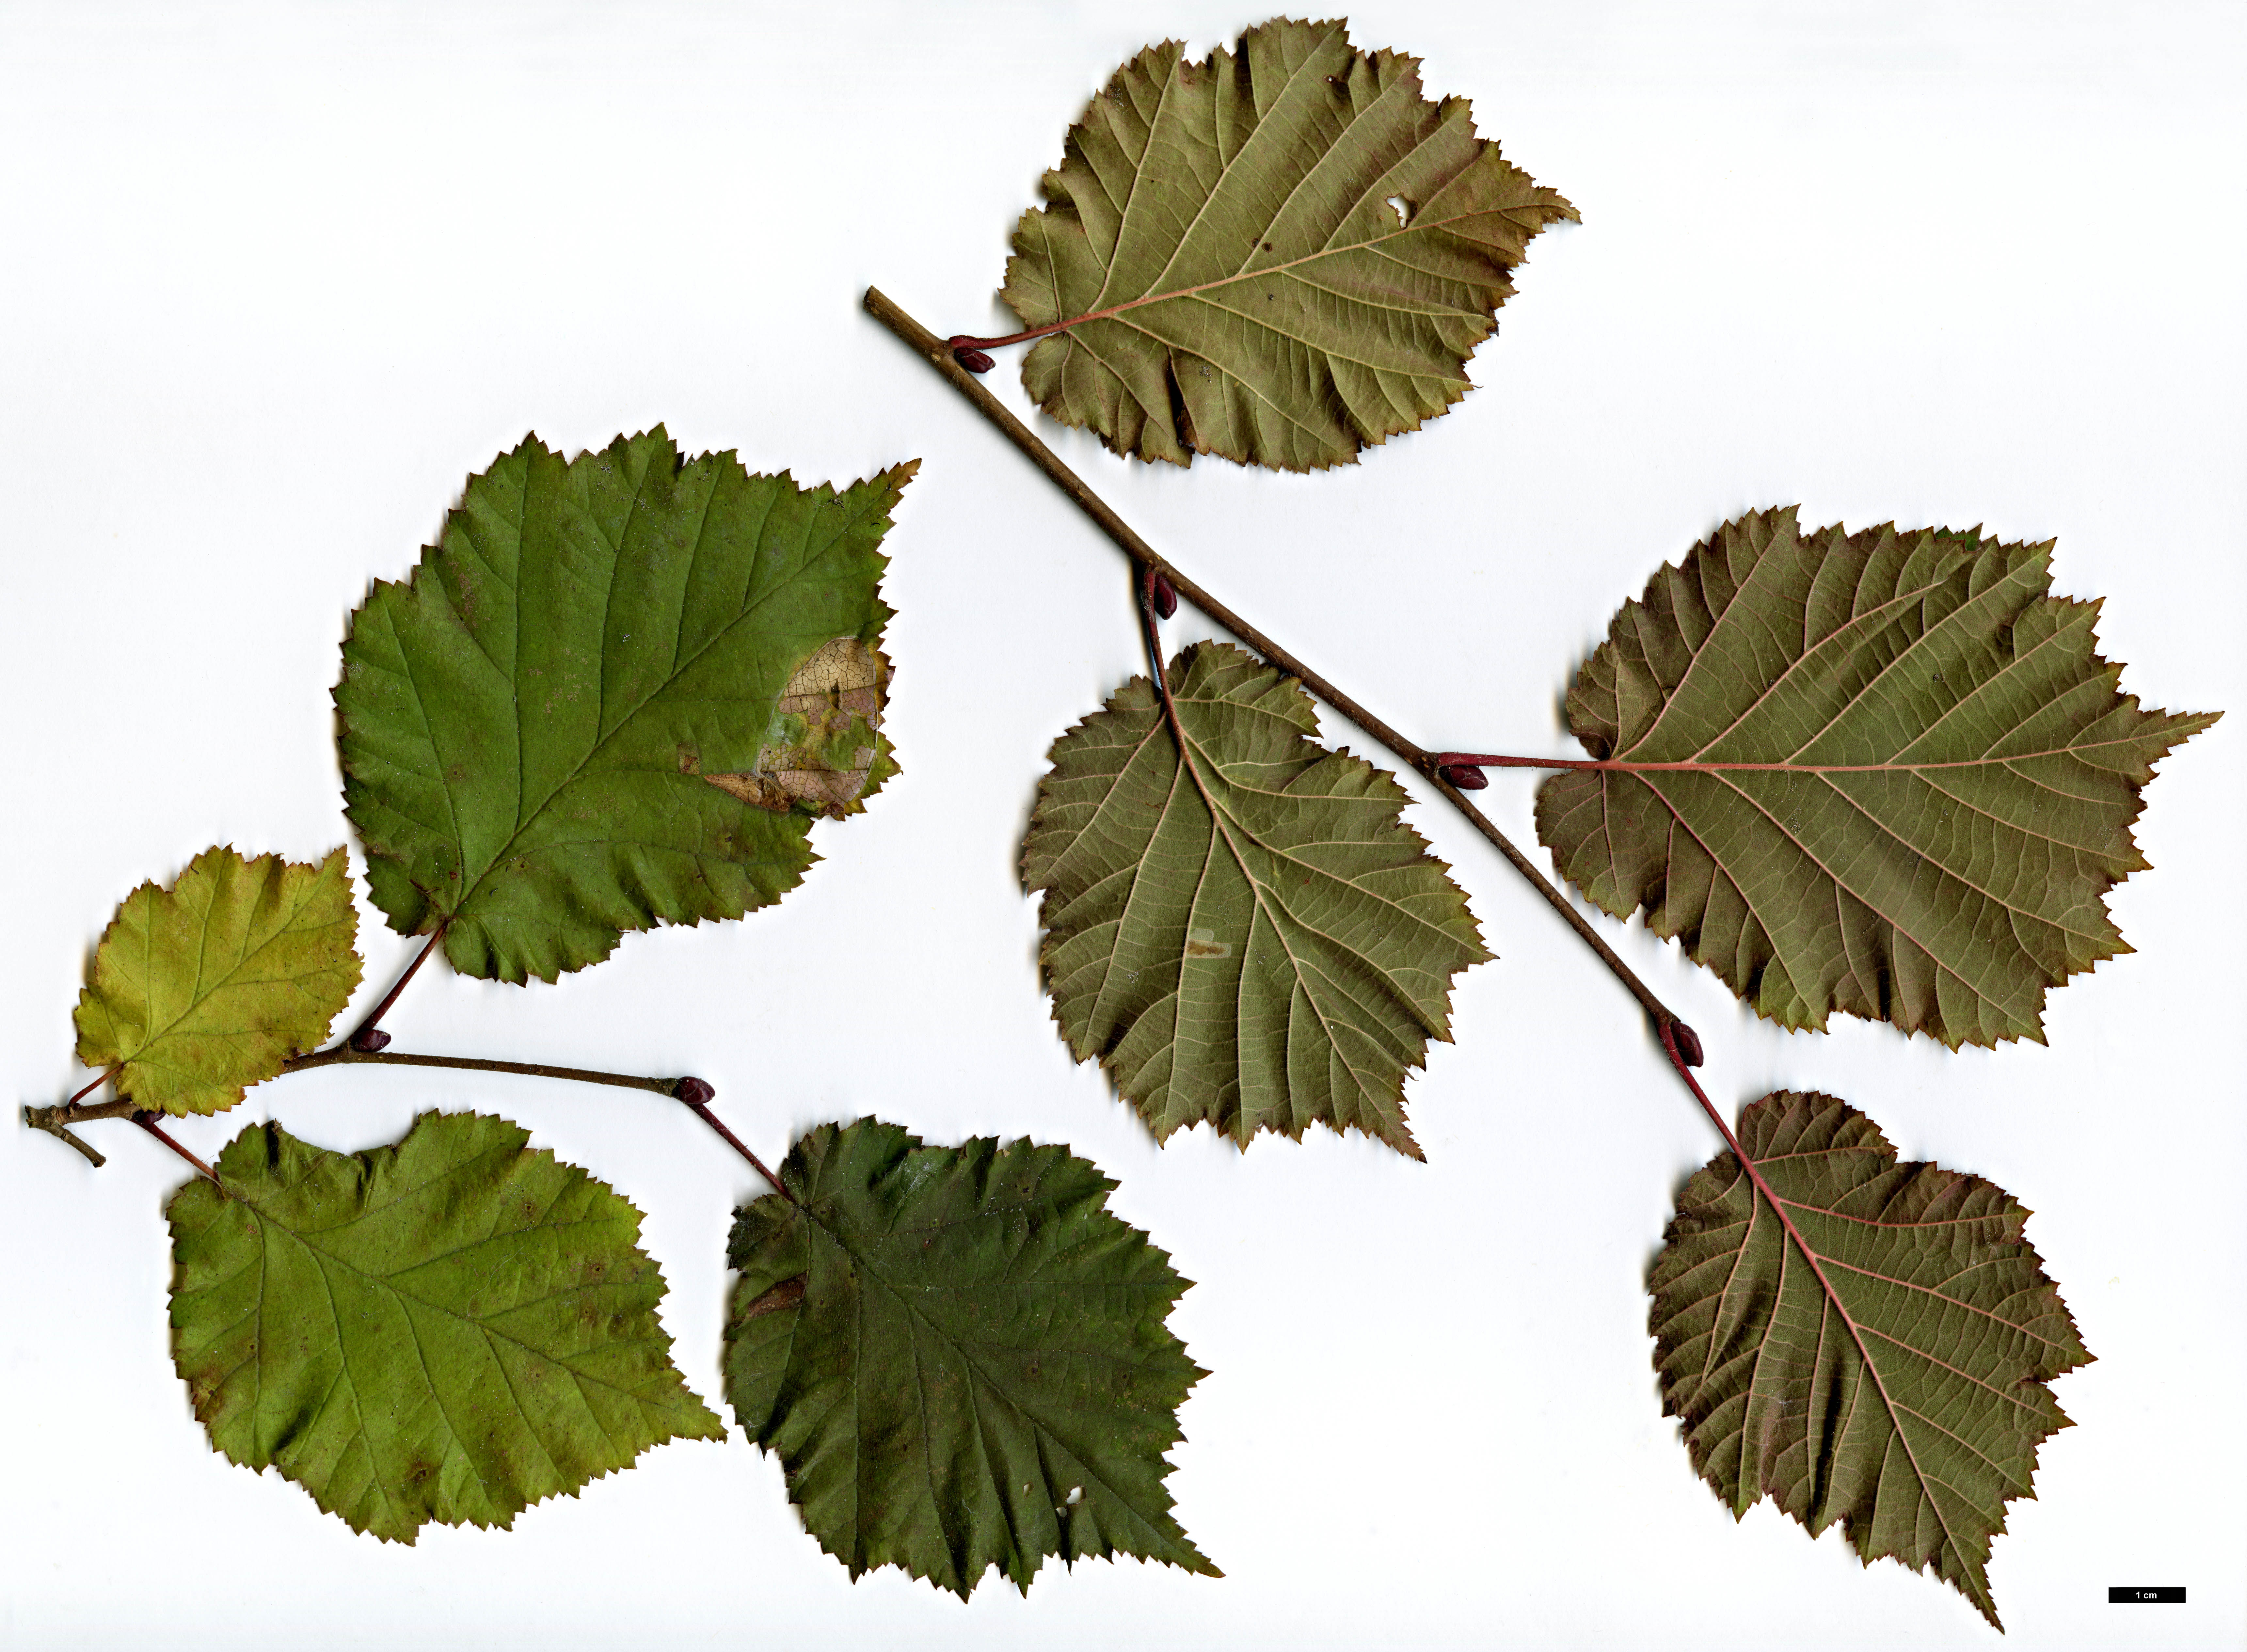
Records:
{"label": "large green leaf with a tan withered patch on its right edge", "polygon": [[335,690],[391,928],[443,924],[470,975],[555,980],[625,931],[795,888],[811,816],[897,769],[879,544],[915,470],[804,490],[681,461],[656,427],[568,463],[528,438],[472,476],[413,578],[353,616]]}

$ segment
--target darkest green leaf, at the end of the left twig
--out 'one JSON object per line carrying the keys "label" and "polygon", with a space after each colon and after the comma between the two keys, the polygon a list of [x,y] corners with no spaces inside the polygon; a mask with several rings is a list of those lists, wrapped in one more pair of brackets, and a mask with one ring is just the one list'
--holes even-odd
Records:
{"label": "darkest green leaf, at the end of the left twig", "polygon": [[1164,1452],[1207,1376],[1164,1324],[1186,1281],[1058,1146],[921,1146],[822,1124],[746,1205],[726,1400],[820,1546],[966,1596],[998,1564],[1144,1555],[1220,1576]]}

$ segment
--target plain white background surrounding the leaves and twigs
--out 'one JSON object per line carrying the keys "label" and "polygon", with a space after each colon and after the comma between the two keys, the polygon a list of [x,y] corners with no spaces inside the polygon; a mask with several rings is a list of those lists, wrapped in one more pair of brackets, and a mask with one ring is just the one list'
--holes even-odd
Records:
{"label": "plain white background surrounding the leaves and twigs", "polygon": [[[1108,70],[1258,11],[1171,4],[0,4],[0,809],[11,1099],[76,1088],[117,899],[209,843],[346,838],[328,688],[369,578],[467,472],[665,420],[753,470],[921,456],[890,537],[903,778],[782,906],[631,935],[557,987],[445,971],[400,1047],[699,1072],[777,1158],[881,1113],[1029,1133],[1119,1180],[1198,1281],[1177,1513],[1222,1582],[1049,1567],[971,1605],[852,1585],[739,1436],[512,1533],[353,1535],[209,1452],[171,1371],[180,1164],[0,1131],[0,1641],[20,1648],[1993,1648],[1944,1585],[1737,1524],[1658,1409],[1643,1277],[1717,1146],[1638,1014],[1481,838],[1434,838],[1501,960],[1364,1137],[1155,1149],[1070,1063],[1013,854],[1047,744],[1139,668],[1115,551],[858,310],[1004,330],[1007,234]],[[1557,699],[1717,521],[1989,524],[2108,598],[2123,686],[2234,717],[2168,760],[2112,908],[2139,948],[2049,1045],[1789,1036],[1640,926],[1723,1108],[1834,1090],[1984,1173],[2099,1362],[2056,1385],[1991,1576],[2025,1648],[2247,1634],[2236,4],[1366,4],[1584,223],[1544,234],[1452,416],[1321,476],[1132,468],[1045,425],[1155,544],[1427,744],[1564,753]],[[993,387],[1020,405],[1009,357]],[[1189,611],[1173,641],[1200,632]],[[1348,728],[1330,735],[1364,748]],[[1532,841],[1532,775],[1492,814]],[[2225,845],[2231,845],[2229,850]],[[1541,852],[1539,852],[1541,859]],[[369,984],[409,944],[362,906]],[[346,1023],[348,1025],[348,1023]],[[647,1211],[717,1398],[755,1180],[627,1092],[321,1072],[187,1122],[337,1149],[503,1110]],[[2110,1607],[2177,1582],[2184,1607]]]}

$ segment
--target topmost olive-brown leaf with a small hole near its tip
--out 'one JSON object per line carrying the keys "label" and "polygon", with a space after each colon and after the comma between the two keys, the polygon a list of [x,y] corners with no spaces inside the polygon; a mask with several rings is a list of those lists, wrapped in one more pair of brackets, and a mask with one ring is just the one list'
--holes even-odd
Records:
{"label": "topmost olive-brown leaf with a small hole near its tip", "polygon": [[1025,389],[1119,454],[1274,470],[1353,463],[1465,396],[1530,238],[1575,218],[1465,99],[1420,94],[1418,58],[1288,18],[1119,67],[1043,193],[1000,297],[1067,330]]}

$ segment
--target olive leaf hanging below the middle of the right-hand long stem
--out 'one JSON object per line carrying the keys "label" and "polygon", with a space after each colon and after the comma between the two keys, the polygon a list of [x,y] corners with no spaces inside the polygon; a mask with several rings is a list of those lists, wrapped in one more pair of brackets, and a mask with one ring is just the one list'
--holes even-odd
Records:
{"label": "olive leaf hanging below the middle of the right-hand long stem", "polygon": [[1209,1119],[1357,1128],[1420,1158],[1404,1072],[1449,1041],[1452,975],[1490,957],[1467,899],[1373,764],[1319,746],[1310,695],[1229,645],[1054,744],[1022,843],[1047,991],[1157,1137]]}

